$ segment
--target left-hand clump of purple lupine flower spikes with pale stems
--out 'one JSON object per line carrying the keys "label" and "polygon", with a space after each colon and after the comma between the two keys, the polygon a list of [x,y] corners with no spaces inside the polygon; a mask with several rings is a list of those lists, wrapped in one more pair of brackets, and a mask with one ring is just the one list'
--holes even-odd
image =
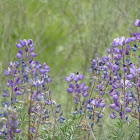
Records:
{"label": "left-hand clump of purple lupine flower spikes with pale stems", "polygon": [[[51,99],[51,91],[49,83],[52,82],[49,72],[50,67],[44,63],[34,61],[36,53],[34,53],[34,44],[31,39],[20,40],[16,44],[18,48],[18,61],[10,62],[10,66],[5,70],[7,76],[7,89],[4,90],[5,102],[2,103],[4,111],[1,111],[1,130],[0,136],[5,139],[15,139],[15,134],[22,130],[20,122],[21,113],[17,104],[24,108],[27,106],[28,114],[28,139],[37,139],[39,136],[39,127],[44,125],[47,129],[50,113],[52,112],[54,119],[63,123],[65,118],[63,112],[60,113],[61,105],[56,106],[56,102]],[[60,114],[59,114],[60,113]],[[19,115],[18,115],[19,114]],[[59,114],[57,116],[57,114]],[[57,118],[56,118],[57,117]],[[47,122],[47,123],[46,123]],[[48,123],[49,122],[49,123]],[[20,124],[20,129],[18,129]]]}

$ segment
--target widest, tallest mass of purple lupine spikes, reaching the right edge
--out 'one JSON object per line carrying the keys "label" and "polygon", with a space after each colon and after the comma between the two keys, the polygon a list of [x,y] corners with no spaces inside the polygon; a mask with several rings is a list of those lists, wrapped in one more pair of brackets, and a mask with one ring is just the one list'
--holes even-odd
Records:
{"label": "widest, tallest mass of purple lupine spikes, reaching the right edge", "polygon": [[[140,20],[135,21],[135,26],[140,27]],[[137,56],[137,50],[140,49],[139,42],[140,33],[138,32],[133,33],[133,37],[116,38],[107,48],[107,55],[100,59],[96,54],[91,60],[92,65],[89,68],[92,74],[91,90],[84,96],[86,100],[81,107],[84,106],[85,110],[90,112],[88,113],[89,119],[95,120],[97,116],[98,121],[92,122],[99,122],[99,119],[104,116],[104,108],[108,106],[112,111],[110,114],[112,119],[119,117],[130,122],[129,114],[140,119],[140,56]],[[133,58],[138,59],[138,64],[133,63]],[[65,79],[71,82],[74,79],[73,74]],[[76,80],[75,83],[77,84]],[[73,92],[77,87],[76,84],[75,86],[69,84],[68,93]],[[80,89],[74,90],[74,98],[78,96],[79,99],[82,85]],[[111,96],[112,103],[107,105],[108,99],[105,97],[109,96]]]}

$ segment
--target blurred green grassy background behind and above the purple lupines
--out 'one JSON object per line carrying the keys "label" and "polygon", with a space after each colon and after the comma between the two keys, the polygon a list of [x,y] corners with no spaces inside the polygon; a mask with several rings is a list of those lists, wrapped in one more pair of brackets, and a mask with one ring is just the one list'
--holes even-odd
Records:
{"label": "blurred green grassy background behind and above the purple lupines", "polygon": [[96,52],[103,56],[114,38],[132,36],[137,18],[139,0],[0,0],[0,92],[16,43],[31,38],[35,60],[51,67],[54,100],[72,112],[65,75],[84,73],[89,84],[90,59]]}

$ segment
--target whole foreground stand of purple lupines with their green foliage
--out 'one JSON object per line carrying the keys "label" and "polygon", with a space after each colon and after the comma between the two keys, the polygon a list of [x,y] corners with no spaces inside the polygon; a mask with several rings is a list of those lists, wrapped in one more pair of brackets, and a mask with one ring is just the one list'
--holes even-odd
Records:
{"label": "whole foreground stand of purple lupines with their green foliage", "polygon": [[[140,20],[135,21],[140,27]],[[109,136],[103,139],[137,138],[140,140],[140,33],[132,37],[114,39],[107,54],[101,59],[98,54],[88,68],[90,85],[84,82],[85,75],[70,73],[65,76],[67,92],[73,96],[76,110],[70,118],[63,117],[61,104],[52,99],[50,67],[36,61],[31,39],[16,44],[17,61],[10,62],[5,70],[6,88],[2,93],[0,108],[0,138],[6,140],[37,139],[83,139],[95,137],[96,126],[104,116],[118,122]],[[135,60],[138,60],[134,63]],[[110,114],[106,113],[108,110]],[[110,111],[111,110],[111,111]],[[127,127],[137,122],[130,133]],[[116,122],[116,121],[115,121]],[[86,136],[87,134],[87,136]]]}

